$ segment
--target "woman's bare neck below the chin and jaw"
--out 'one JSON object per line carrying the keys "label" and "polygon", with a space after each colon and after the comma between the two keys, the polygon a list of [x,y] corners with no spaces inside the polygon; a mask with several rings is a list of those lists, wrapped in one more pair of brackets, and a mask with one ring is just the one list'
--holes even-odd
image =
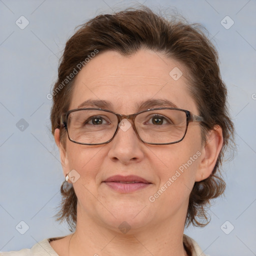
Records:
{"label": "woman's bare neck below the chin and jaw", "polygon": [[[88,216],[87,216],[88,217]],[[69,256],[187,255],[183,243],[184,218],[165,220],[127,233],[111,230],[77,211],[77,228],[69,243]]]}

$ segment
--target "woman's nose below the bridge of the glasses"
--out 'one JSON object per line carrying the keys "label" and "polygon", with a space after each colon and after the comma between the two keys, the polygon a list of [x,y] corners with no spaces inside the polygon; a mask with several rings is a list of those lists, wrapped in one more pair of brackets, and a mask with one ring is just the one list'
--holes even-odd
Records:
{"label": "woman's nose below the bridge of the glasses", "polygon": [[123,119],[118,126],[117,133],[109,142],[109,158],[123,164],[141,161],[144,156],[143,142],[137,137],[131,123],[127,119]]}

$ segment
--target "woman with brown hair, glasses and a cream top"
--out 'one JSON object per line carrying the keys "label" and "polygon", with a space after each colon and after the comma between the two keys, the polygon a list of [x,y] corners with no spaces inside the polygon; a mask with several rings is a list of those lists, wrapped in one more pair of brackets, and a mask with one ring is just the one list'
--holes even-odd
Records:
{"label": "woman with brown hair, glasses and a cream top", "polygon": [[67,41],[52,99],[73,233],[1,255],[204,255],[183,231],[224,191],[233,124],[200,29],[146,7],[96,16]]}

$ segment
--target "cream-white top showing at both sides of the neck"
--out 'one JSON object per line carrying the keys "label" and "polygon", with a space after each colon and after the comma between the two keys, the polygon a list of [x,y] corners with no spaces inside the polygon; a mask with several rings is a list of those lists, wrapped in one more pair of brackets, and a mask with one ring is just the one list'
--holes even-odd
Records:
{"label": "cream-white top showing at both sides of the neck", "polygon": [[[62,237],[43,239],[33,245],[31,249],[21,249],[17,251],[0,252],[0,256],[59,256],[50,246],[49,242]],[[191,256],[205,256],[195,240],[183,234],[183,243],[191,249]]]}

